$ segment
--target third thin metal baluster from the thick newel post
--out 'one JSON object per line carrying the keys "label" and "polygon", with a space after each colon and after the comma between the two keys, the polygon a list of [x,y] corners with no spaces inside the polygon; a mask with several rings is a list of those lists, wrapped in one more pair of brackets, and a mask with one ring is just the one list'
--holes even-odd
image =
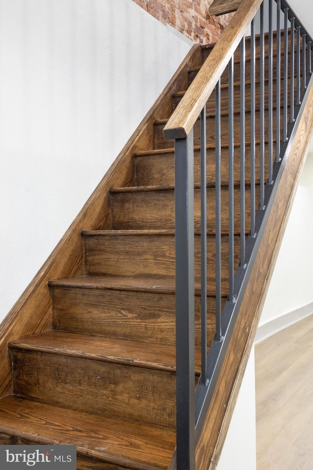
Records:
{"label": "third thin metal baluster from the thick newel post", "polygon": [[234,56],[228,64],[228,246],[229,300],[234,297]]}

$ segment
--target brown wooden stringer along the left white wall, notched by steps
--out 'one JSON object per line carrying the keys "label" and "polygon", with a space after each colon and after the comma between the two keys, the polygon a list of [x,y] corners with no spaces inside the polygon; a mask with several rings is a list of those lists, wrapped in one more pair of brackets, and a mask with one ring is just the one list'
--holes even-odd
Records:
{"label": "brown wooden stringer along the left white wall, notched by steps", "polygon": [[188,85],[188,68],[201,65],[199,45],[192,47],[178,71],[156,100],[147,116],[139,124],[111,168],[79,212],[64,237],[53,250],[38,274],[26,288],[0,326],[0,397],[12,392],[11,363],[7,342],[26,334],[51,327],[49,279],[64,278],[82,273],[83,229],[110,229],[111,198],[109,188],[134,184],[134,151],[149,150],[153,146],[155,119],[170,116],[172,93]]}

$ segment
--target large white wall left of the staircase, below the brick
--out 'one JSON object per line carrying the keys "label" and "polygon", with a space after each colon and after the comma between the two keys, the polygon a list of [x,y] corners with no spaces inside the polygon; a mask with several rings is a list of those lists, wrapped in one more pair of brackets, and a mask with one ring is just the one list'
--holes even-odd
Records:
{"label": "large white wall left of the staircase, below the brick", "polygon": [[0,0],[0,320],[190,47],[131,0]]}

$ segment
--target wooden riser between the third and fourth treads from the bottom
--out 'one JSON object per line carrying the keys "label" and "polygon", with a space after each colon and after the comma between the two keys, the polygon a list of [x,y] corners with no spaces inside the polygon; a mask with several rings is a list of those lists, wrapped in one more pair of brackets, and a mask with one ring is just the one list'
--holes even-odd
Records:
{"label": "wooden riser between the third and fourth treads from the bottom", "polygon": [[[175,277],[175,235],[83,236],[87,275]],[[215,236],[207,236],[207,279],[215,282]],[[229,237],[222,236],[222,283],[228,282]],[[240,236],[234,236],[235,265],[240,259]],[[195,236],[195,282],[201,282],[201,237]]]}

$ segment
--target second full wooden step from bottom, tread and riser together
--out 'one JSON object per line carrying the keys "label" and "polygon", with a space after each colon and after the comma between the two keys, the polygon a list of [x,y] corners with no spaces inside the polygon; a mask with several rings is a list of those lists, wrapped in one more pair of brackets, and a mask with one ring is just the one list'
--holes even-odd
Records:
{"label": "second full wooden step from bottom, tread and riser together", "polygon": [[175,427],[173,346],[49,334],[10,344],[15,395]]}

